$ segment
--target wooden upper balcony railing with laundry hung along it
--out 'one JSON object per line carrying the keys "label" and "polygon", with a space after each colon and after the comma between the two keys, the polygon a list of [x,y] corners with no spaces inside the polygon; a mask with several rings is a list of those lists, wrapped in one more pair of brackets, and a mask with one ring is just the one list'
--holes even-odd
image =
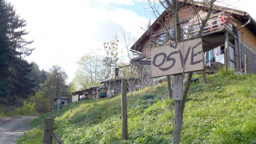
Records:
{"label": "wooden upper balcony railing with laundry hung along it", "polygon": [[[205,18],[202,18],[204,20]],[[236,21],[229,16],[225,12],[220,12],[217,14],[213,14],[210,16],[207,24],[205,25],[204,31],[202,36],[215,33],[218,30],[226,29],[230,33],[233,33],[235,36],[237,35],[237,26]],[[201,22],[198,21],[189,21],[186,23],[181,24],[181,35],[182,39],[193,39],[197,36]],[[167,28],[166,30],[158,31],[151,33],[150,37],[150,47],[162,46],[165,44],[169,44],[175,42],[175,30],[174,28]]]}

